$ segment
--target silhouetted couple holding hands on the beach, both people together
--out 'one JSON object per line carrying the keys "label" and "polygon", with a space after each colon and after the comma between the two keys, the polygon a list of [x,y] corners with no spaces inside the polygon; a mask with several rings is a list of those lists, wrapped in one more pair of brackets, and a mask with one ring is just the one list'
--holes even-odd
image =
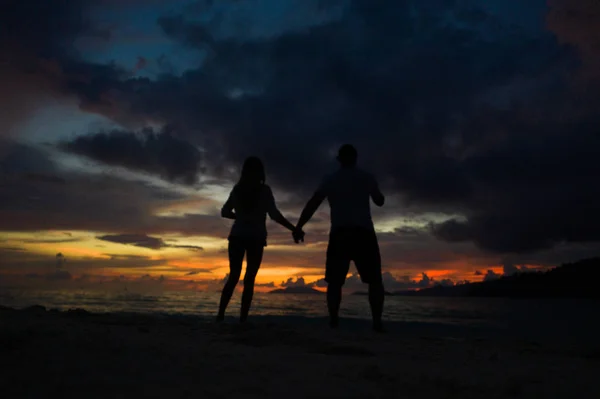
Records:
{"label": "silhouetted couple holding hands on the beach, both people together", "polygon": [[327,199],[331,208],[331,228],[325,265],[327,282],[327,308],[332,328],[339,324],[342,287],[354,261],[363,283],[369,286],[369,304],[373,329],[382,331],[384,289],[381,276],[379,244],[371,218],[370,201],[383,206],[385,197],[377,180],[357,167],[358,153],[350,145],[343,145],[337,160],[340,168],[326,176],[312,198],[307,202],[294,226],[277,209],[271,188],[266,184],[266,174],[259,158],[246,159],[238,183],[223,205],[221,216],[233,219],[229,234],[229,278],[223,287],[217,321],[225,318],[225,310],[242,273],[244,256],[246,274],[240,321],[248,318],[254,281],[267,245],[266,215],[292,232],[296,243],[304,241],[303,227],[321,203]]}

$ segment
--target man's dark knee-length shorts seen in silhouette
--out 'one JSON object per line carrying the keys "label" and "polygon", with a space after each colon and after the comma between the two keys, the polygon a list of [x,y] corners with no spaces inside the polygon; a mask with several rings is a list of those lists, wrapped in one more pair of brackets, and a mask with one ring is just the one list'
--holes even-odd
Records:
{"label": "man's dark knee-length shorts seen in silhouette", "polygon": [[329,233],[325,281],[343,285],[354,261],[363,283],[381,282],[381,255],[375,231],[363,227],[343,227]]}

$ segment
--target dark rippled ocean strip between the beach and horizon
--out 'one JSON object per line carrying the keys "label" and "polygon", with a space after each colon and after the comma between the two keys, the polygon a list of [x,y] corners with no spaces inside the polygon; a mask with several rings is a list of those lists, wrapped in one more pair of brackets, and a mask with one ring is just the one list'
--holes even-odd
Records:
{"label": "dark rippled ocean strip between the beach and horizon", "polygon": [[[0,305],[25,308],[85,309],[92,313],[146,313],[212,318],[217,311],[218,292],[162,292],[140,294],[101,291],[3,290]],[[227,316],[235,319],[241,294],[236,292]],[[484,328],[498,333],[518,331],[532,336],[592,336],[599,332],[595,315],[600,302],[577,299],[509,299],[386,297],[384,317],[406,328],[436,325]],[[316,320],[327,316],[325,295],[255,293],[251,316],[270,319]],[[342,318],[369,320],[367,296],[344,295]]]}

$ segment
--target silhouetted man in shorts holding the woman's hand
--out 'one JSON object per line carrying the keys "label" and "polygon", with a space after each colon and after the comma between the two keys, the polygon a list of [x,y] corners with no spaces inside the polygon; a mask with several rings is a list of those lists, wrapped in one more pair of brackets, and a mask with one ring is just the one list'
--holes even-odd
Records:
{"label": "silhouetted man in shorts holding the woman's hand", "polygon": [[381,256],[371,219],[370,199],[375,205],[383,206],[385,197],[375,177],[356,166],[357,158],[358,153],[352,145],[346,144],[339,149],[337,160],[340,169],[323,179],[304,207],[296,231],[301,231],[327,198],[331,208],[331,229],[325,281],[330,325],[333,328],[338,326],[342,287],[350,269],[350,261],[354,261],[361,281],[369,285],[373,329],[382,331],[384,290]]}

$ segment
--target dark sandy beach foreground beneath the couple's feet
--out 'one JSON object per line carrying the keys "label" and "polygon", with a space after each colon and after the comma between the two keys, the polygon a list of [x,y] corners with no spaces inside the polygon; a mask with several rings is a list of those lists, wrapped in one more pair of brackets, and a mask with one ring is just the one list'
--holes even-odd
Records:
{"label": "dark sandy beach foreground beneath the couple's feet", "polygon": [[468,328],[0,308],[2,398],[600,398],[600,346]]}

